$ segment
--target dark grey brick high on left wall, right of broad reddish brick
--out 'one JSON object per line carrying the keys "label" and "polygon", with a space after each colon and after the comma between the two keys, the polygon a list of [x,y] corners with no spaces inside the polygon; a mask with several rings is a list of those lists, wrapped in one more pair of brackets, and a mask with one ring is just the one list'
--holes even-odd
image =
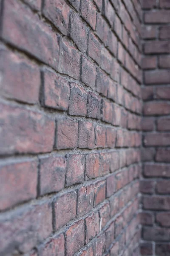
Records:
{"label": "dark grey brick high on left wall, right of broad reddish brick", "polygon": [[70,16],[70,37],[73,39],[78,49],[85,52],[87,49],[87,29],[80,16],[72,12]]}

